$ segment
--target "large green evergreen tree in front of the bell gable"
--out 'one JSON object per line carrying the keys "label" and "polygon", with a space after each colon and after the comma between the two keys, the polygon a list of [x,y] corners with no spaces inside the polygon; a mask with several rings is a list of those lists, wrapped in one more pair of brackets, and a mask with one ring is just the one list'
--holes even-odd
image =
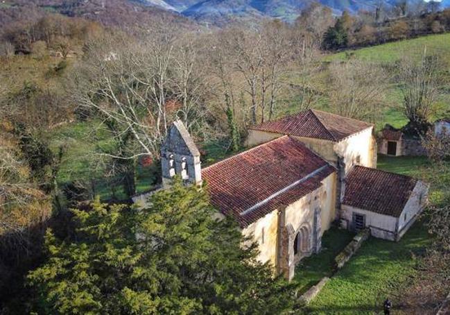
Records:
{"label": "large green evergreen tree in front of the bell gable", "polygon": [[48,259],[28,275],[37,312],[275,314],[291,289],[242,245],[231,219],[213,219],[205,191],[180,181],[137,211],[96,201],[75,210],[76,236],[46,235]]}

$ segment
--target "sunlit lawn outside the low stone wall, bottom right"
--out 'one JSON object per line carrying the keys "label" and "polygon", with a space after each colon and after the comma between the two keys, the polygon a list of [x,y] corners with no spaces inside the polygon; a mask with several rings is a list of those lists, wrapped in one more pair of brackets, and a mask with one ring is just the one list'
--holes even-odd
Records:
{"label": "sunlit lawn outside the low stone wall, bottom right", "polygon": [[[415,272],[416,255],[431,239],[422,223],[395,243],[371,237],[305,309],[307,314],[377,314],[389,296],[399,305],[401,284]],[[392,295],[394,294],[394,295]]]}

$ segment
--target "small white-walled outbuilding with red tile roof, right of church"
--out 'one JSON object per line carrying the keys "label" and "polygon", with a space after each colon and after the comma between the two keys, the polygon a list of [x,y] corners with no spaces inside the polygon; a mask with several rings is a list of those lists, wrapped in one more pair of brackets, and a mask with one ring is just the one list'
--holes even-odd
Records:
{"label": "small white-walled outbuilding with red tile roof, right of church", "polygon": [[424,209],[428,190],[415,178],[356,166],[345,179],[341,226],[399,241]]}

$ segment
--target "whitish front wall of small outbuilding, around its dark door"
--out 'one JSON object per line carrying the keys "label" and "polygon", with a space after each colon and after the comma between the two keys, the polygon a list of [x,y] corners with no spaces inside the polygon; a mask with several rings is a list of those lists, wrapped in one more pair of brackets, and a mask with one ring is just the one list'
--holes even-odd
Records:
{"label": "whitish front wall of small outbuilding, around its dark door", "polygon": [[370,234],[381,239],[395,240],[395,233],[397,228],[397,218],[394,216],[386,216],[367,210],[350,207],[349,205],[342,205],[340,211],[341,223],[346,222],[345,228],[352,228],[353,213],[365,215],[365,226],[370,228]]}

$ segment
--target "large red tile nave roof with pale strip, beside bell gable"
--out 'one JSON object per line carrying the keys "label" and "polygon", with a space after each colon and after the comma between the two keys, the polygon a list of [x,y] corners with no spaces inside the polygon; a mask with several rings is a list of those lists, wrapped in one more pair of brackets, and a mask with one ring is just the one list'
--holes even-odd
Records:
{"label": "large red tile nave roof with pale strip, beside bell gable", "polygon": [[336,171],[288,136],[261,144],[202,170],[211,203],[248,226],[320,187]]}

